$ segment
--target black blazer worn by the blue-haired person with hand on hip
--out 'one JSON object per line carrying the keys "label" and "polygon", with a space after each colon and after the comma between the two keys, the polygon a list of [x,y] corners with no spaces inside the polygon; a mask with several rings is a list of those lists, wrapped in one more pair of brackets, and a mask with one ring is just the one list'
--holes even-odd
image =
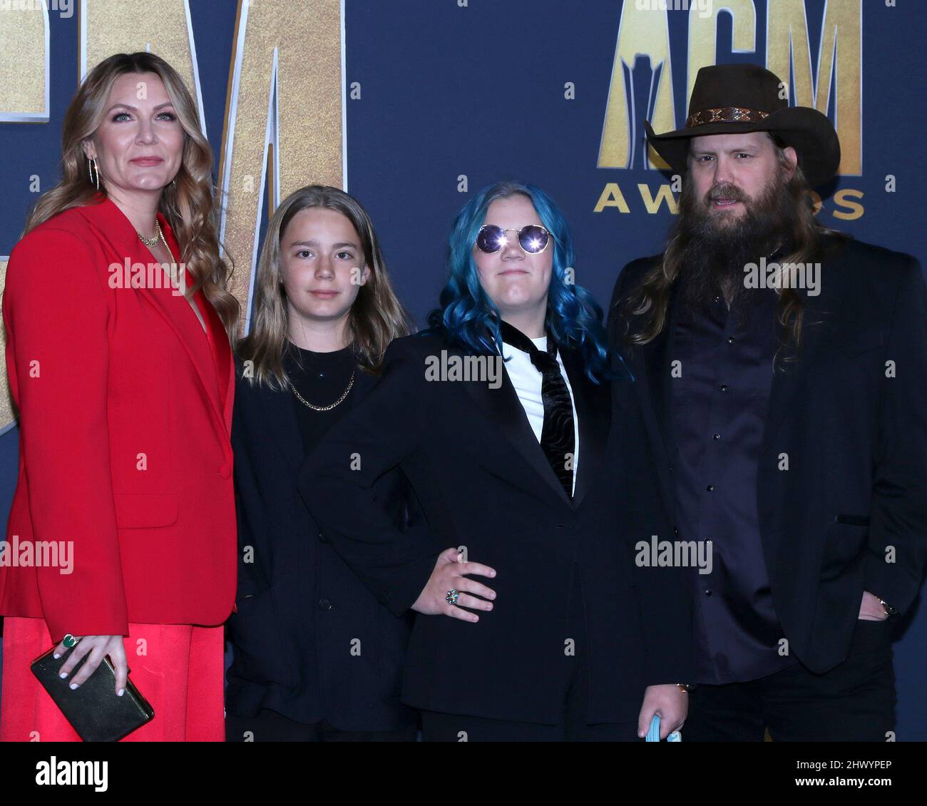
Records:
{"label": "black blazer worn by the blue-haired person with hand on hip", "polygon": [[[636,721],[647,684],[691,679],[691,598],[677,569],[638,569],[634,542],[666,533],[628,382],[597,386],[563,352],[579,420],[576,494],[557,481],[503,373],[502,387],[425,379],[425,358],[461,353],[425,332],[395,340],[380,384],[329,431],[299,486],[332,544],[394,612],[413,605],[438,553],[465,545],[498,575],[474,624],[415,620],[403,700],[417,708],[556,723],[574,563],[588,633],[591,721]],[[350,469],[359,455],[362,469]],[[425,518],[404,537],[375,481],[400,467]]]}

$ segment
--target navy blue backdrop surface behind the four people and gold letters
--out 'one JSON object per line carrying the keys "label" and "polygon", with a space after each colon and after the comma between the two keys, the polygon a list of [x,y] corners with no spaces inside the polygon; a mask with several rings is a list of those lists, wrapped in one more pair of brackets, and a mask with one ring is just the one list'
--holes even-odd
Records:
{"label": "navy blue backdrop surface behind the four people and gold letters", "polygon": [[[715,5],[743,3],[717,0]],[[767,63],[769,14],[778,11],[768,6],[785,6],[786,0],[749,5],[756,12],[756,49],[731,52],[732,19],[721,13],[718,63]],[[831,5],[832,11],[861,9],[862,173],[841,176],[822,192],[820,216],[829,226],[908,251],[923,262],[927,15],[920,0],[832,0]],[[237,3],[189,0],[189,8],[218,174]],[[805,10],[810,62],[817,70],[826,4],[806,0]],[[603,305],[626,262],[661,249],[672,216],[665,204],[648,213],[638,186],[648,186],[655,196],[667,176],[645,164],[640,143],[629,168],[598,167],[621,12],[621,0],[345,0],[345,79],[362,88],[360,98],[346,101],[349,191],[370,211],[400,298],[420,324],[442,285],[445,239],[454,213],[470,193],[504,177],[543,186],[558,200],[574,231],[578,283]],[[690,15],[653,13],[654,25],[668,19],[671,82],[681,124],[687,107]],[[49,121],[0,123],[3,255],[15,244],[35,201],[30,177],[38,174],[47,188],[57,176],[61,120],[75,87],[78,16],[50,15]],[[838,33],[838,47],[843,36]],[[171,54],[160,55],[171,59]],[[634,68],[633,83],[629,70],[621,70],[633,102],[636,138],[653,108],[654,85],[649,58],[634,59],[629,67]],[[853,81],[852,75],[840,78]],[[15,76],[3,76],[8,80]],[[829,105],[832,119],[835,93]],[[467,192],[461,192],[461,175],[467,177]],[[886,190],[889,176],[895,177],[891,192]],[[305,177],[307,184],[312,180]],[[614,206],[595,211],[607,183],[618,184],[629,211]],[[862,194],[854,198],[862,214],[853,220],[834,216],[850,210],[833,198],[847,188]],[[16,481],[17,441],[15,428],[0,436],[4,513]],[[895,643],[900,741],[927,739],[925,611],[921,597],[899,625]]]}

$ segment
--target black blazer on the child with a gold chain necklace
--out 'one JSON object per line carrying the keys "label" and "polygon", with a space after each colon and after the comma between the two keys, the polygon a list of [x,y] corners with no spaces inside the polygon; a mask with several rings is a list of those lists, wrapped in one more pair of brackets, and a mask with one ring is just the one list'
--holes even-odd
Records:
{"label": "black blazer on the child with a gold chain necklace", "polygon": [[[380,605],[303,504],[296,479],[306,457],[292,393],[252,387],[240,363],[236,369],[238,590],[226,709],[248,717],[269,708],[349,731],[413,724],[417,715],[399,701],[412,620]],[[358,371],[343,404],[356,406],[375,381]],[[385,517],[404,528],[401,474],[385,475],[375,489]]]}

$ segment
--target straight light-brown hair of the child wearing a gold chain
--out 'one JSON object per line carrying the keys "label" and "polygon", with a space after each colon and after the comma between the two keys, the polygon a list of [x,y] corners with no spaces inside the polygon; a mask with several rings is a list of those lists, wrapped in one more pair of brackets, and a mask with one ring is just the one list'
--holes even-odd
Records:
{"label": "straight light-brown hair of the child wearing a gold chain", "polygon": [[254,283],[254,321],[248,336],[237,345],[238,355],[252,362],[246,374],[252,385],[286,389],[289,378],[283,359],[291,350],[286,313],[286,289],[281,276],[280,241],[299,211],[322,207],[344,215],[361,239],[364,265],[370,276],[360,288],[348,313],[348,333],[358,365],[373,375],[379,372],[383,354],[392,339],[408,336],[412,319],[396,298],[387,274],[374,224],[361,202],[337,187],[302,187],[284,199],[273,213],[260,249]]}

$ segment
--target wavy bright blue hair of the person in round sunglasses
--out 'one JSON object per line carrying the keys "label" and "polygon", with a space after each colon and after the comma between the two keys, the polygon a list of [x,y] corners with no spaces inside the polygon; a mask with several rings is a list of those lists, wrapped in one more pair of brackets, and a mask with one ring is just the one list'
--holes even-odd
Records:
{"label": "wavy bright blue hair of the person in round sunglasses", "polygon": [[486,223],[489,205],[497,198],[519,194],[531,200],[553,241],[545,326],[558,344],[580,352],[590,380],[599,383],[612,377],[602,308],[589,291],[566,281],[567,269],[572,272],[574,265],[569,225],[550,196],[540,187],[524,182],[497,182],[484,187],[457,214],[448,238],[448,281],[441,289],[438,308],[428,314],[428,326],[443,331],[451,343],[466,352],[502,354],[501,315],[479,282],[473,246],[479,228]]}

